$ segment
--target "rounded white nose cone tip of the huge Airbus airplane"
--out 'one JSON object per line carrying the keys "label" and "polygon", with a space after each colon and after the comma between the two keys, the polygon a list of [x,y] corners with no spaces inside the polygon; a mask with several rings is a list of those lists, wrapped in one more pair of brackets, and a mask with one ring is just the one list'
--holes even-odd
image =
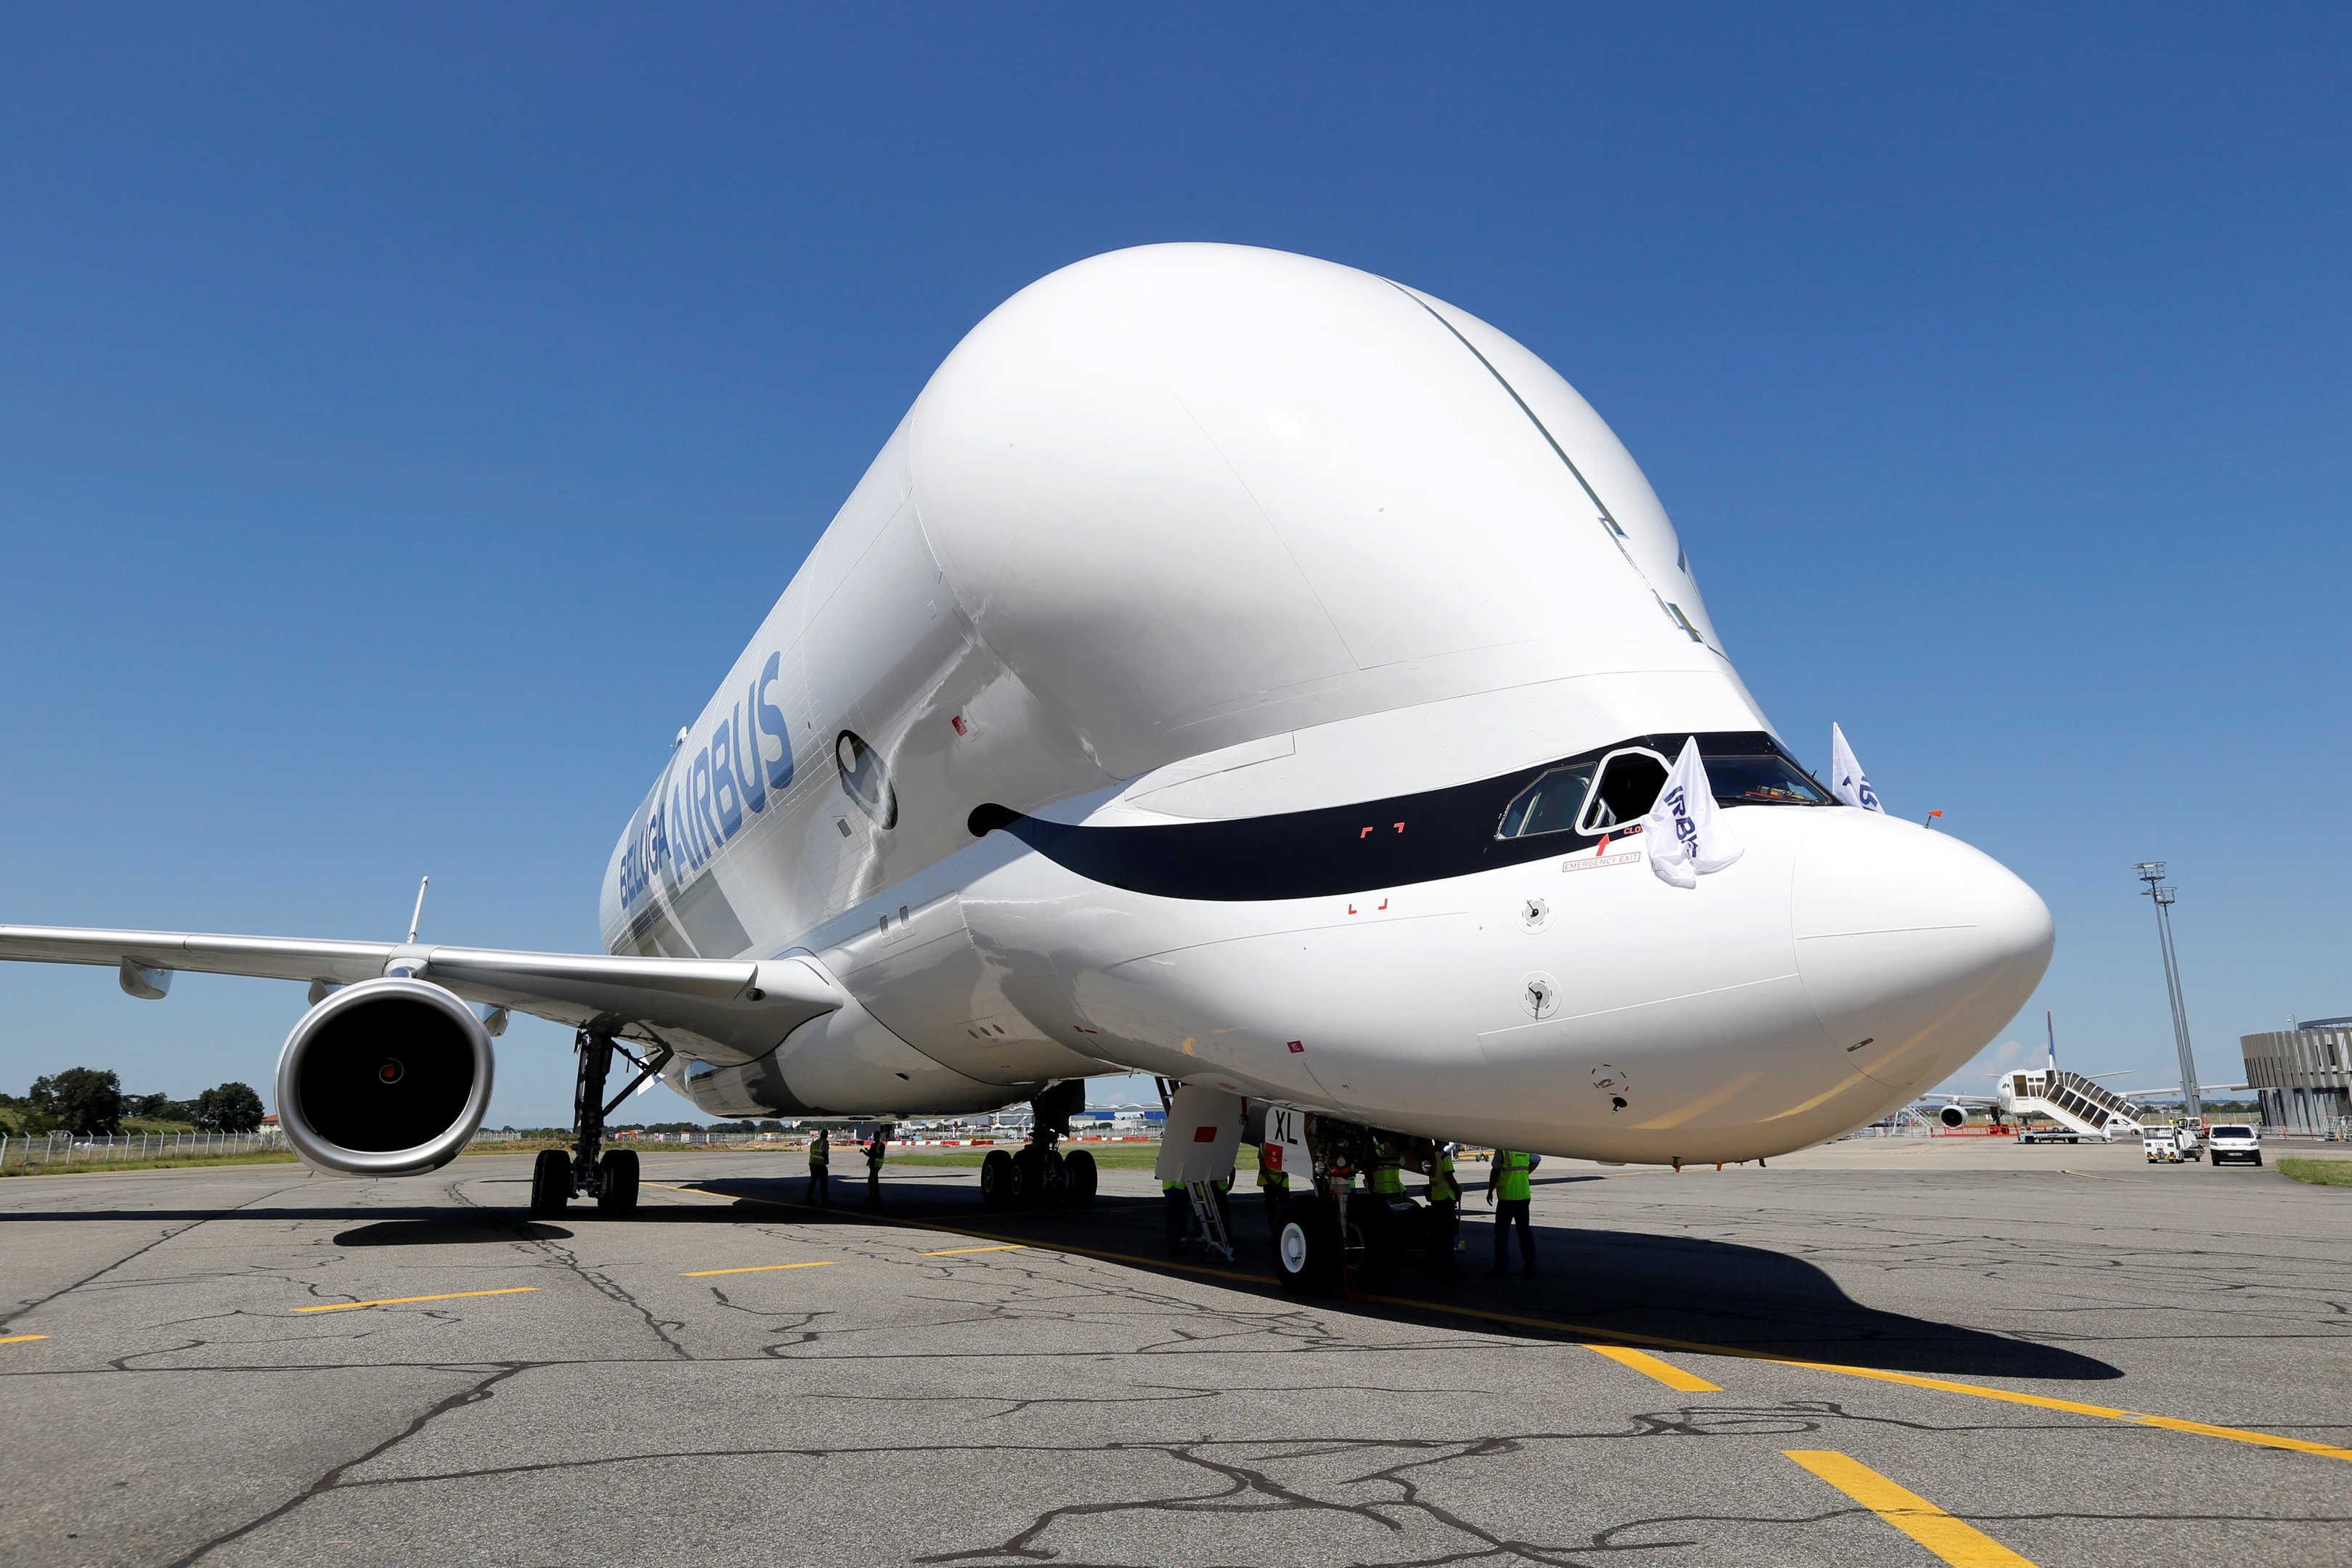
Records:
{"label": "rounded white nose cone tip of the huge Airbus airplane", "polygon": [[1950,835],[1870,811],[1823,816],[1790,903],[1806,999],[1851,1065],[1889,1088],[1929,1088],[2042,983],[2049,905]]}

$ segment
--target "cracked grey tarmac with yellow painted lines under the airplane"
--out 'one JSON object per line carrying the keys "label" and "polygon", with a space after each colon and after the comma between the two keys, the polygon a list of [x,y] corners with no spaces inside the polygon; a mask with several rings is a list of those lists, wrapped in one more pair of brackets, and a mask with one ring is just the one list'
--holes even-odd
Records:
{"label": "cracked grey tarmac with yellow painted lines under the airplane", "polygon": [[1141,1171],[800,1175],[0,1180],[0,1563],[2352,1561],[2352,1190],[2274,1168],[1545,1161],[1484,1279],[1465,1166],[1472,1267],[1381,1300],[1282,1295],[1247,1187],[1225,1267]]}

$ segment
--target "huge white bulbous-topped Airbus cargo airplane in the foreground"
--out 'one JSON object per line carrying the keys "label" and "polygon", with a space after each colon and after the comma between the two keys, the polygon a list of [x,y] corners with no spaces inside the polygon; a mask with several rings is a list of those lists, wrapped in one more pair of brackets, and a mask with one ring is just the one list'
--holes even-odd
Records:
{"label": "huge white bulbous-topped Airbus cargo airplane in the foreground", "polygon": [[[1684,755],[1696,795],[1665,788]],[[1670,882],[1668,795],[1712,795],[1736,863]],[[1338,1204],[1371,1131],[1762,1159],[1969,1060],[2053,943],[1990,856],[1795,762],[1555,369],[1235,244],[1080,261],[955,346],[680,731],[600,931],[0,926],[0,957],[134,997],[308,983],[278,1114],[353,1175],[466,1145],[513,1011],[572,1025],[576,1140],[532,1204],[626,1213],[602,1119],[656,1074],[720,1117],[884,1128],[1028,1100],[993,1204],[1091,1197],[1058,1135],[1112,1072],[1308,1112]]]}

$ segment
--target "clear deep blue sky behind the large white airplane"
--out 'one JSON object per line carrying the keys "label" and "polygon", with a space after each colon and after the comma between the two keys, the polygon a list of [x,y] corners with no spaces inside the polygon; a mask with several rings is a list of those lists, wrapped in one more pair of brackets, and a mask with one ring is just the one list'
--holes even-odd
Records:
{"label": "clear deep blue sky behind the large white airplane", "polygon": [[[433,872],[428,938],[595,947],[948,348],[1235,240],[1592,400],[1799,755],[2049,900],[2018,1039],[2164,1077],[2171,860],[2237,1077],[2352,1013],[2347,61],[2328,7],[12,7],[0,919],[386,938]],[[299,1011],[7,966],[0,1088],[266,1088]]]}

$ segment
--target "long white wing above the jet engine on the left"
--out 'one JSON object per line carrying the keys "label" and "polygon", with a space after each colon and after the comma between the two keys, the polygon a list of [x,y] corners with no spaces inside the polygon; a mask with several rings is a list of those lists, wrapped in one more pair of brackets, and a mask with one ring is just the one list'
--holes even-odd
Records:
{"label": "long white wing above the jet engine on the left", "polygon": [[720,1060],[764,1056],[802,1023],[844,1001],[840,987],[802,959],[640,959],[78,926],[0,926],[0,959],[115,966],[122,990],[134,997],[160,997],[169,973],[181,969],[310,980],[315,987],[374,980],[397,969],[466,1001]]}

